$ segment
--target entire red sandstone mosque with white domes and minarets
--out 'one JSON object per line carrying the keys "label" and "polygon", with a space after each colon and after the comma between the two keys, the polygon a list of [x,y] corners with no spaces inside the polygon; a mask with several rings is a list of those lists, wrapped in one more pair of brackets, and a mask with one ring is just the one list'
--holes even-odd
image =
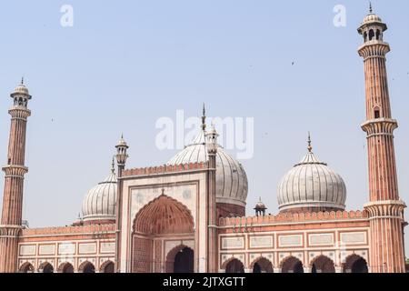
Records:
{"label": "entire red sandstone mosque with white domes and minarets", "polygon": [[345,210],[343,178],[315,155],[309,139],[304,157],[277,188],[279,213],[266,215],[260,200],[254,216],[246,215],[244,167],[217,144],[204,112],[192,143],[163,166],[127,168],[121,137],[116,161],[86,194],[80,219],[72,226],[29,228],[22,206],[32,96],[22,82],[8,111],[0,272],[403,273],[405,204],[397,185],[386,29],[372,8],[358,29],[369,196],[356,211]]}

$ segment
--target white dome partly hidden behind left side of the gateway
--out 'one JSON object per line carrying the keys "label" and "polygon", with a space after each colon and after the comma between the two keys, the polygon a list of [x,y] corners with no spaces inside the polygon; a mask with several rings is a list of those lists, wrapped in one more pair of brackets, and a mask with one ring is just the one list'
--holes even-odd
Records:
{"label": "white dome partly hidden behind left side of the gateway", "polygon": [[115,220],[116,182],[113,166],[111,174],[86,194],[82,209],[84,222]]}

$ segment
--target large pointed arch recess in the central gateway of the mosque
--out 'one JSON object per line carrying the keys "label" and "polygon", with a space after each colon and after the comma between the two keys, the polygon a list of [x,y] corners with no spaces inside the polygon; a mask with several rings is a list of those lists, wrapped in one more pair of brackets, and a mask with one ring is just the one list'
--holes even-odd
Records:
{"label": "large pointed arch recess in the central gateway of the mosque", "polygon": [[160,244],[163,246],[162,242],[155,241],[158,236],[172,239],[175,235],[175,238],[183,236],[184,240],[194,239],[194,218],[182,203],[165,194],[158,196],[136,214],[133,230],[132,253],[135,255],[132,258],[132,272],[195,271],[195,252],[186,246],[176,246],[168,255],[154,258],[154,244],[155,250],[160,249]]}

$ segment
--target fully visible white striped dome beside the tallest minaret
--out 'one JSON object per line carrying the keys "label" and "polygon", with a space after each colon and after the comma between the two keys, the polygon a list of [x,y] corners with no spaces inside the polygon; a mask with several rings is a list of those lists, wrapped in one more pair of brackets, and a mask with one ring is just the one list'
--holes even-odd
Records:
{"label": "fully visible white striped dome beside the tallest minaret", "polygon": [[281,180],[278,204],[281,212],[344,210],[346,188],[341,176],[320,162],[308,135],[308,153]]}

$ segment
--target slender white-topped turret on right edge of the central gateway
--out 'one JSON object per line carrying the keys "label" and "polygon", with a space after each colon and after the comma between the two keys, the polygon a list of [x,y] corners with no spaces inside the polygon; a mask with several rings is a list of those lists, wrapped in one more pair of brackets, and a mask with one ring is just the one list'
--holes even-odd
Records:
{"label": "slender white-topped turret on right edge of the central gateway", "polygon": [[[205,111],[204,111],[205,115]],[[205,130],[205,126],[204,126]],[[214,125],[205,133],[208,155],[207,173],[207,273],[217,272],[217,206],[216,206],[216,156],[217,132]]]}

